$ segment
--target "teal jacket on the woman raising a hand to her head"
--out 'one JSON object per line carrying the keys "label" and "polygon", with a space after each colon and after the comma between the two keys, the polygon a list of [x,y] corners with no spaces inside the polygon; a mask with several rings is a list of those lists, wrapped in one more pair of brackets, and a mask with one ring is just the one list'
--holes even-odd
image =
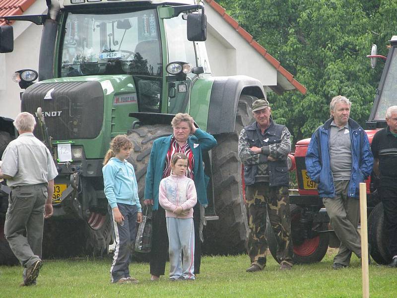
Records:
{"label": "teal jacket on the woman raising a hand to her head", "polygon": [[[163,178],[165,157],[167,156],[168,149],[170,149],[172,136],[161,137],[155,140],[150,151],[145,178],[145,200],[153,200],[153,210],[158,210],[159,185]],[[212,135],[198,128],[194,136],[189,136],[188,144],[195,157],[193,173],[195,174],[194,181],[197,190],[197,200],[202,206],[206,207],[208,205],[207,184],[209,178],[204,174],[202,152],[210,150],[217,143]]]}

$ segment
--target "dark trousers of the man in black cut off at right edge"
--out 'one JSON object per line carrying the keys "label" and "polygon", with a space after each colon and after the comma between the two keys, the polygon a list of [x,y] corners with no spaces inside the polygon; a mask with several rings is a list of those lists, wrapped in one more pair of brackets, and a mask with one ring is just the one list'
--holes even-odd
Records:
{"label": "dark trousers of the man in black cut off at right edge", "polygon": [[385,230],[391,256],[397,256],[397,186],[379,188],[385,214]]}

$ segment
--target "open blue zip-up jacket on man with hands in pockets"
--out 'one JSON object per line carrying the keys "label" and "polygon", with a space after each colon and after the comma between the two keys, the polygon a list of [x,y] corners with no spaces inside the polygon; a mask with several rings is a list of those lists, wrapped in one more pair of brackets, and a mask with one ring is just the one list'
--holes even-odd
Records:
{"label": "open blue zip-up jacket on man with hands in pockets", "polygon": [[[335,187],[330,162],[330,131],[333,118],[327,120],[312,135],[306,153],[307,173],[318,185],[321,198],[334,198]],[[349,118],[352,152],[352,171],[348,186],[348,197],[357,198],[360,183],[371,174],[374,163],[367,134],[353,119]]]}

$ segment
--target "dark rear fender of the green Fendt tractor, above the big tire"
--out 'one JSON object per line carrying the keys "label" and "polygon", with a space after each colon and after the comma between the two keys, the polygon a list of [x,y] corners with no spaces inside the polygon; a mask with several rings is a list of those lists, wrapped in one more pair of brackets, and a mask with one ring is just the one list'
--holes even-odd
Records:
{"label": "dark rear fender of the green Fendt tractor, above the big tire", "polygon": [[246,75],[215,77],[209,102],[207,132],[212,135],[234,131],[241,94],[266,98],[262,83]]}

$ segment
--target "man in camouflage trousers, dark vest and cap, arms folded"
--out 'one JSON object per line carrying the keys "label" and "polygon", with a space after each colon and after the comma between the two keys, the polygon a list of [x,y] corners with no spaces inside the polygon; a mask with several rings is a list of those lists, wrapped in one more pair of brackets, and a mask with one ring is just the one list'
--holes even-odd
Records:
{"label": "man in camouflage trousers, dark vest and cap, arms folded", "polygon": [[251,266],[247,272],[261,271],[266,265],[267,213],[278,242],[280,269],[289,270],[293,264],[287,167],[290,133],[284,125],[273,122],[267,100],[256,100],[252,112],[256,122],[243,128],[239,137],[250,226],[248,255]]}

